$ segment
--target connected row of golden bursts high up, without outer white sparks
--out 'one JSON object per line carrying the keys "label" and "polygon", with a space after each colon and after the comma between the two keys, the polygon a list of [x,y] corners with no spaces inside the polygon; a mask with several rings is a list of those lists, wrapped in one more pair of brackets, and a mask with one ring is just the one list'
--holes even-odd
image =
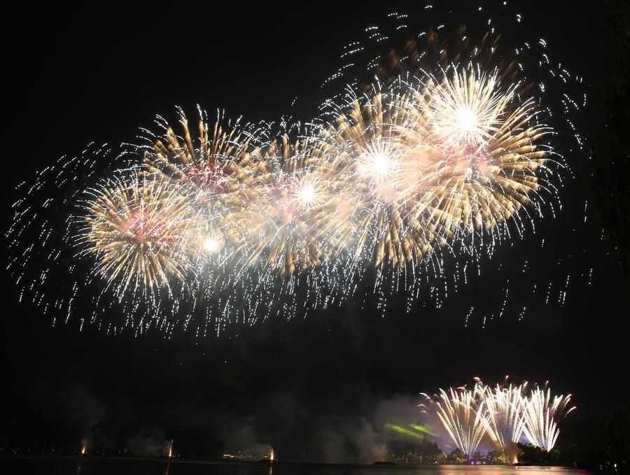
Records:
{"label": "connected row of golden bursts high up, without outer white sparks", "polygon": [[[376,92],[321,134],[255,147],[199,123],[169,127],[132,178],[83,202],[76,240],[118,295],[200,278],[288,278],[331,265],[404,267],[493,229],[535,200],[548,132],[532,101],[496,76],[461,69],[421,89]],[[202,278],[202,277],[201,277]]]}

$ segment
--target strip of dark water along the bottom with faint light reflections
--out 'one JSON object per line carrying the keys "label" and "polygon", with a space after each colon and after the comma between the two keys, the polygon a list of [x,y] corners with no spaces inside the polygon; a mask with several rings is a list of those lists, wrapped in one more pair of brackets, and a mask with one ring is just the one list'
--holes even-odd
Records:
{"label": "strip of dark water along the bottom with faint light reflections", "polygon": [[126,458],[24,457],[0,458],[4,474],[34,475],[587,475],[561,467],[500,467],[440,465],[405,467],[328,465],[276,462],[200,462]]}

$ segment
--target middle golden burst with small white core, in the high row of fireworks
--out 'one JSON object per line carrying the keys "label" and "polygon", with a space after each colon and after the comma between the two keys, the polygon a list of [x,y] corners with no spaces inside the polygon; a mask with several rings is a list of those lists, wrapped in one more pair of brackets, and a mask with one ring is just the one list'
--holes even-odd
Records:
{"label": "middle golden burst with small white core, in the high row of fireworks", "polygon": [[344,248],[344,183],[323,144],[283,135],[262,153],[265,164],[253,204],[249,262],[260,260],[281,276],[330,263]]}

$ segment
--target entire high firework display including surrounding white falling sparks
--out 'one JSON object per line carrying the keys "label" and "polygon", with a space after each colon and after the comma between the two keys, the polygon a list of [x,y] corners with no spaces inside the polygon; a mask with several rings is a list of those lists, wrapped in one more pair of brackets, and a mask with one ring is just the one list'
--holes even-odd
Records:
{"label": "entire high firework display including surrounding white falling sparks", "polygon": [[[116,305],[120,327],[170,332],[218,311],[219,332],[276,302],[287,316],[325,309],[365,276],[413,296],[421,274],[442,272],[442,254],[491,253],[556,199],[560,157],[519,67],[491,66],[496,43],[465,48],[454,59],[416,48],[411,74],[381,71],[285,132],[213,123],[201,110],[191,125],[179,110],[178,123],[158,118],[163,132],[145,130],[116,159],[89,149],[48,167],[15,204],[8,234],[21,293],[68,320],[80,289],[95,286],[82,323],[102,325],[97,309]],[[65,214],[55,222],[51,209]],[[33,233],[36,243],[22,242]],[[47,264],[30,271],[41,255]],[[69,299],[45,295],[55,266],[74,276]]]}

